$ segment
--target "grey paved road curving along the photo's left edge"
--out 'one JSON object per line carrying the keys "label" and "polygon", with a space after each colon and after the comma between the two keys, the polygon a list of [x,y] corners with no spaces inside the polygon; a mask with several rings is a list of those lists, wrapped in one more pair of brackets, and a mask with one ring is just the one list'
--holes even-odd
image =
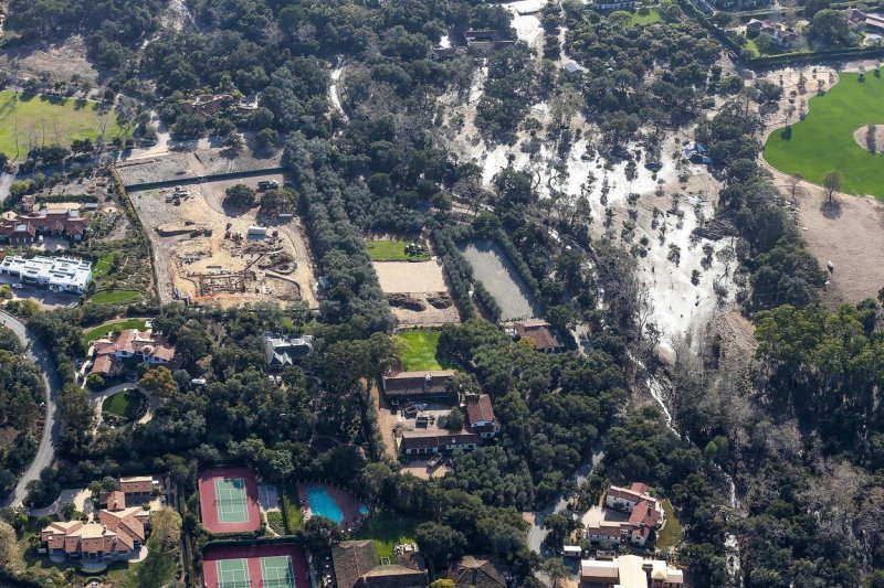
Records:
{"label": "grey paved road curving along the photo's left edge", "polygon": [[43,385],[46,388],[45,425],[43,427],[43,436],[40,438],[40,447],[36,449],[36,456],[22,474],[12,494],[2,501],[4,506],[19,506],[24,502],[24,496],[28,494],[28,482],[39,480],[40,472],[50,467],[55,459],[55,441],[59,439],[61,429],[61,424],[55,420],[55,402],[62,389],[62,379],[59,377],[55,362],[53,362],[49,352],[36,338],[28,332],[24,323],[3,311],[0,311],[0,323],[11,329],[15,336],[19,338],[22,346],[27,349],[27,357],[40,367]]}

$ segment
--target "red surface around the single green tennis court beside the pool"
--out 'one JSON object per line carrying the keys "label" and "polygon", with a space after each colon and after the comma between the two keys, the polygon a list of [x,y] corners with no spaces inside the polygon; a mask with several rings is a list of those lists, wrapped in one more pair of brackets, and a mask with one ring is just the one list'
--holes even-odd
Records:
{"label": "red surface around the single green tennis court beside the pool", "polygon": [[[245,482],[245,521],[222,522],[221,511],[227,507],[219,499],[215,488],[224,480]],[[219,482],[218,484],[215,482]],[[200,515],[202,525],[211,533],[246,533],[261,526],[261,512],[257,507],[257,482],[252,470],[244,466],[211,468],[200,473]]]}

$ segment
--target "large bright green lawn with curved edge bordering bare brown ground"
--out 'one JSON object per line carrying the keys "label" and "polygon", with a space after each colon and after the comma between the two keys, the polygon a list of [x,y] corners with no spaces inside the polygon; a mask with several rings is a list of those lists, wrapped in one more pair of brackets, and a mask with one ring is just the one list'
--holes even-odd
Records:
{"label": "large bright green lawn with curved edge bordering bare brown ground", "polygon": [[[853,133],[870,124],[884,125],[884,79],[872,72],[841,73],[841,81],[808,103],[804,120],[775,130],[765,143],[768,163],[786,173],[800,173],[814,184],[838,171],[842,191],[884,199],[884,156],[860,147]],[[884,148],[881,146],[880,148]]]}

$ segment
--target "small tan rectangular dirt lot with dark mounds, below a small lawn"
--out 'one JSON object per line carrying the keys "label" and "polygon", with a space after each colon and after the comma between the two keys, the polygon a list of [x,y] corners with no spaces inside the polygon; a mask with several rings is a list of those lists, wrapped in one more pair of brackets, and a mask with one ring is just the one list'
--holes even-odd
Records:
{"label": "small tan rectangular dirt lot with dark mounds, below a small lawn", "polygon": [[402,327],[461,322],[442,265],[430,261],[372,261],[390,310]]}

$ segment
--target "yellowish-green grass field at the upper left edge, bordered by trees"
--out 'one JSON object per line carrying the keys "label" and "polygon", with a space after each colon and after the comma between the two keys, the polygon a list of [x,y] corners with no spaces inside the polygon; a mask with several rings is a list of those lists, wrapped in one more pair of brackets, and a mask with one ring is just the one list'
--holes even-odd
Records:
{"label": "yellowish-green grass field at the upper left edge, bordered by trees", "polygon": [[125,136],[114,110],[104,113],[97,103],[0,92],[0,151],[10,159],[23,160],[29,143],[69,147],[74,139],[95,140],[103,126],[108,141]]}

